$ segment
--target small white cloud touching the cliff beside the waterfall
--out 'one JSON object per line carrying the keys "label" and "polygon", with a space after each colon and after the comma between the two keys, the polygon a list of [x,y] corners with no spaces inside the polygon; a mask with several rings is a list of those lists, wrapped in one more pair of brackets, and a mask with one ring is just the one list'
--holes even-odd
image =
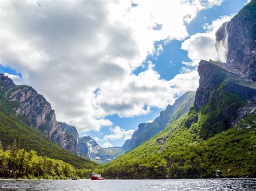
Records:
{"label": "small white cloud touching the cliff beside the waterfall", "polygon": [[190,38],[186,39],[181,49],[187,51],[188,58],[191,62],[183,62],[188,66],[197,66],[201,59],[204,60],[217,60],[217,51],[215,50],[215,32],[219,27],[228,22],[232,16],[222,16],[216,20],[213,20],[211,24],[204,24],[203,28],[207,30],[205,33],[196,33]]}

